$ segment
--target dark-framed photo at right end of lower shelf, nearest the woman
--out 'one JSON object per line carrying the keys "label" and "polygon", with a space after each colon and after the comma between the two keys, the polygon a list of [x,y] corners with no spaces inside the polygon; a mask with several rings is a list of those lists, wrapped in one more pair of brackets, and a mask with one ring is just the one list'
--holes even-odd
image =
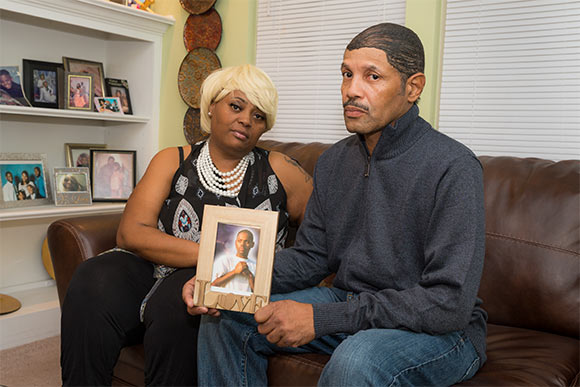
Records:
{"label": "dark-framed photo at right end of lower shelf, nearest the woman", "polygon": [[124,202],[135,189],[137,151],[91,149],[94,202]]}

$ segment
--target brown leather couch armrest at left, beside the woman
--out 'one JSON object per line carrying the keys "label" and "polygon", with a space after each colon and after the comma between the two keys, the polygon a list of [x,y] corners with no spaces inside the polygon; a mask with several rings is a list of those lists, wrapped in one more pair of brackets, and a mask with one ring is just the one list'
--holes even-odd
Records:
{"label": "brown leather couch armrest at left, beside the woman", "polygon": [[60,305],[76,267],[112,249],[122,214],[60,219],[48,227],[47,239]]}

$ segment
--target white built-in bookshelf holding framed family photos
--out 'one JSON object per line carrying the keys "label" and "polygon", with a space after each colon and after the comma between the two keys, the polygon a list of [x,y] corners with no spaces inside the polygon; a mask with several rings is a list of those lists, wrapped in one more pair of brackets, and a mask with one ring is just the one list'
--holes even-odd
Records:
{"label": "white built-in bookshelf holding framed family photos", "polygon": [[[159,148],[163,36],[173,23],[172,17],[105,0],[0,0],[0,65],[18,65],[22,71],[23,59],[61,63],[63,56],[101,62],[105,77],[128,81],[134,113],[0,106],[0,152],[46,154],[51,173],[65,166],[65,143],[106,144],[109,149],[137,151],[139,179]],[[30,302],[43,299],[42,313],[54,314],[47,310],[47,305],[58,308],[54,282],[41,258],[48,225],[65,217],[120,213],[123,208],[124,203],[95,203],[0,209],[0,293],[17,297],[21,292],[45,292],[49,301],[24,297],[22,308],[35,311]],[[15,317],[23,314],[0,316],[0,328],[18,326]],[[28,314],[26,318],[35,320]],[[0,348],[8,336],[6,331],[0,336]]]}

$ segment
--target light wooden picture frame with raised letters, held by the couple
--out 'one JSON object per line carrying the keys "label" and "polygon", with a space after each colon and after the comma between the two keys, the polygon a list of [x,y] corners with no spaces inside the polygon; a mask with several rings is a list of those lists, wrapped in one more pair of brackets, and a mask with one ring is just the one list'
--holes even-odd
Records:
{"label": "light wooden picture frame with raised letters, held by the couple", "polygon": [[[276,211],[206,205],[194,304],[252,314],[266,306],[270,302],[277,225]],[[235,273],[237,267],[242,271]]]}

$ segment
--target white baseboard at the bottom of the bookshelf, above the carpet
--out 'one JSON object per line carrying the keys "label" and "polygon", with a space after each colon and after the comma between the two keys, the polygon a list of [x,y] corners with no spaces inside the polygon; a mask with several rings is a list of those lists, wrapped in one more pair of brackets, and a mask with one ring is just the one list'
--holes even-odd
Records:
{"label": "white baseboard at the bottom of the bookshelf, above the carpet", "polygon": [[60,334],[60,305],[54,284],[9,295],[22,307],[0,316],[0,350]]}

